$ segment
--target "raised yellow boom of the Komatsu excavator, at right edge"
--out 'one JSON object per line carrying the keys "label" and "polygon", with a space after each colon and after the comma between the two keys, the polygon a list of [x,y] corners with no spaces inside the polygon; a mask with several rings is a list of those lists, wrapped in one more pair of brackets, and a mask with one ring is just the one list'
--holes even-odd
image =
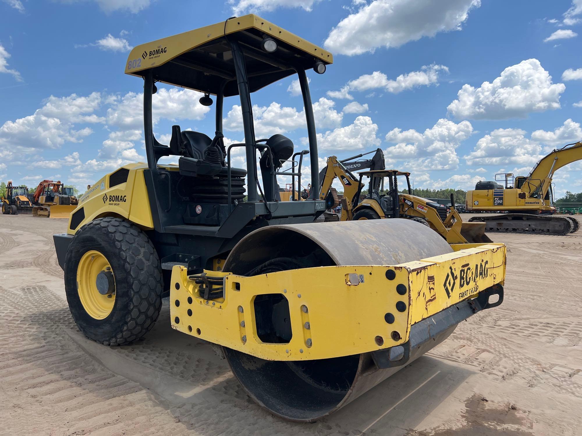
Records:
{"label": "raised yellow boom of the Komatsu excavator, at right edge", "polygon": [[521,191],[526,192],[528,196],[545,198],[552,185],[553,173],[577,160],[582,160],[582,142],[555,149],[534,166],[521,185]]}

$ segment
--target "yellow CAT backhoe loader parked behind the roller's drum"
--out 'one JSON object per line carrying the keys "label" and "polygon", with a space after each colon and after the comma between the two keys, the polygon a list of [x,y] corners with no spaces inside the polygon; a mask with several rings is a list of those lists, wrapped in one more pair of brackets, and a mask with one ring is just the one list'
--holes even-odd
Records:
{"label": "yellow CAT backhoe loader parked behind the roller's drum", "polygon": [[[320,199],[325,199],[326,209],[342,204],[341,221],[402,217],[431,227],[449,244],[492,242],[485,234],[485,224],[463,222],[454,207],[453,196],[450,200],[453,206],[448,212],[443,205],[413,195],[410,188],[410,173],[383,169],[384,154],[381,149],[376,151],[372,160],[360,163],[350,162],[361,156],[363,155],[344,160],[329,156],[327,166],[320,173],[320,176],[323,176]],[[350,167],[357,169],[367,167],[371,170],[357,173],[360,176],[357,180]],[[377,169],[378,167],[382,169]],[[406,178],[407,194],[398,190],[399,176]],[[368,194],[363,201],[360,201],[362,189],[365,187],[364,177],[369,179]],[[336,178],[343,185],[341,201],[332,188],[332,183]]]}

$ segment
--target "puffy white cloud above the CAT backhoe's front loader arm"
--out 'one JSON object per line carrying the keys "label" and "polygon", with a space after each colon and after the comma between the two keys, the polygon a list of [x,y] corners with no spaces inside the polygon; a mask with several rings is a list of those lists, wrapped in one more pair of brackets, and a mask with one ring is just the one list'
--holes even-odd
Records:
{"label": "puffy white cloud above the CAT backhoe's front loader arm", "polygon": [[455,170],[459,165],[456,148],[471,134],[473,126],[469,121],[456,124],[446,119],[438,120],[424,133],[394,128],[386,134],[386,141],[396,145],[384,153],[391,159],[405,160],[407,169]]}

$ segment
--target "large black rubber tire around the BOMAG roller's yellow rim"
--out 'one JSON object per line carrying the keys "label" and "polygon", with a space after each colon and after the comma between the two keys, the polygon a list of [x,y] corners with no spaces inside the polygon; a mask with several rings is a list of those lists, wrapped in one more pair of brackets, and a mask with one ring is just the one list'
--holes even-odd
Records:
{"label": "large black rubber tire around the BOMAG roller's yellow rim", "polygon": [[[77,292],[77,266],[84,253],[101,252],[115,276],[109,316],[94,319]],[[65,256],[65,292],[79,330],[104,345],[129,345],[154,327],[162,308],[162,267],[150,239],[120,218],[100,218],[77,231]]]}

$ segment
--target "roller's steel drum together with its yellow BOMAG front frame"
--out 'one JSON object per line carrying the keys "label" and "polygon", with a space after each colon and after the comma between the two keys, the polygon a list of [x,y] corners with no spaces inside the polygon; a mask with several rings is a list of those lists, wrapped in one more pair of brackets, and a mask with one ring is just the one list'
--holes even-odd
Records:
{"label": "roller's steel drum together with its yellow BOMAG front frame", "polygon": [[222,345],[254,401],[306,422],[500,304],[505,246],[451,246],[406,219],[291,224],[244,237],[222,271],[188,272],[172,269],[172,328]]}

